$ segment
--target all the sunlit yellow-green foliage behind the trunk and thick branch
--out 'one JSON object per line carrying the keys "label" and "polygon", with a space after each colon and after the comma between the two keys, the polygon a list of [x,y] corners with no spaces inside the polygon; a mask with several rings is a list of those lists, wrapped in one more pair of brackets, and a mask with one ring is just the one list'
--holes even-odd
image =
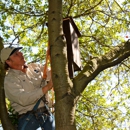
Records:
{"label": "all the sunlit yellow-green foliage behind the trunk and thick branch", "polygon": [[[121,42],[128,40],[130,0],[65,0],[63,18],[72,16],[82,36],[79,38],[82,66]],[[44,62],[48,44],[48,2],[2,0],[0,33],[5,45],[22,45],[28,62]],[[35,53],[33,48],[37,48]],[[125,130],[129,121],[130,59],[109,68],[85,89],[77,104],[79,130]],[[103,124],[103,125],[102,125]]]}

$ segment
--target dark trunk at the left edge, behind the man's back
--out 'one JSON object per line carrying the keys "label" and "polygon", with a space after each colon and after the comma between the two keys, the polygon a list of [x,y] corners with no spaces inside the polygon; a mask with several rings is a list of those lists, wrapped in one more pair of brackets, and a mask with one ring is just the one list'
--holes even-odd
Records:
{"label": "dark trunk at the left edge, behind the man's back", "polygon": [[[2,38],[0,37],[0,50],[3,48]],[[0,119],[4,130],[15,130],[12,125],[5,103],[5,93],[4,93],[4,77],[5,71],[3,64],[0,63]]]}

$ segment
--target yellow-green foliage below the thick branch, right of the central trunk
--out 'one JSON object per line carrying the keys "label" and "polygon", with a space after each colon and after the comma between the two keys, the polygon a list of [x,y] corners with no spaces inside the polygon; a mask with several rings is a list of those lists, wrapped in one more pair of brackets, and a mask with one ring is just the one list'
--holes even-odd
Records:
{"label": "yellow-green foliage below the thick branch, right of the central trunk", "polygon": [[124,130],[130,127],[130,81],[126,81],[130,73],[124,74],[122,71],[124,75],[122,80],[123,75],[119,76],[116,72],[120,69],[123,69],[122,66],[110,68],[88,85],[77,105],[79,130],[106,128]]}

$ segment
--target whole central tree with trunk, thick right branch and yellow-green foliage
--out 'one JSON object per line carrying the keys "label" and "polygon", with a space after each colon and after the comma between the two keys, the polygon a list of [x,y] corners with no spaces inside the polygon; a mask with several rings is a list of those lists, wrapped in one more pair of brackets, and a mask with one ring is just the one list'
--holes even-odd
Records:
{"label": "whole central tree with trunk, thick right branch and yellow-green foliage", "polygon": [[[17,40],[21,45],[26,46],[25,52],[27,49],[30,51],[32,46],[37,46],[39,52],[35,55],[30,52],[33,58],[29,60],[43,60],[45,54],[43,54],[43,47],[46,46],[43,43],[48,42],[47,27],[45,26],[48,22],[56,101],[56,130],[76,130],[76,107],[78,108],[76,112],[77,121],[79,123],[85,122],[85,120],[79,119],[81,116],[83,119],[87,119],[88,124],[87,126],[83,123],[81,126],[79,124],[78,129],[103,129],[104,127],[114,129],[118,127],[114,121],[117,119],[117,122],[120,122],[119,117],[113,113],[121,113],[117,108],[122,104],[114,101],[108,105],[103,98],[104,92],[101,90],[103,89],[102,86],[107,86],[105,91],[113,91],[112,86],[104,85],[104,79],[111,82],[110,77],[106,76],[108,72],[104,70],[113,67],[112,71],[117,71],[118,69],[114,69],[114,66],[118,65],[117,68],[122,68],[121,73],[128,71],[129,75],[130,41],[125,42],[120,36],[129,28],[128,1],[124,1],[123,6],[115,0],[112,2],[109,0],[96,2],[93,0],[49,0],[49,5],[46,1],[43,3],[35,0],[2,2],[0,24],[2,37],[5,38],[4,43],[9,41],[10,36],[13,35],[14,39],[11,39],[11,44],[15,44]],[[76,73],[73,79],[70,79],[68,74],[66,42],[62,30],[62,20],[68,16],[75,19],[82,33],[79,42],[83,69]],[[7,22],[8,24],[5,24]],[[35,60],[36,57],[38,60]],[[122,76],[122,74],[120,75]],[[96,79],[97,77],[98,79]],[[100,82],[99,78],[102,79]],[[122,79],[124,81],[122,84],[129,84],[128,77],[122,77]],[[120,83],[115,85],[114,90],[118,90],[118,86]],[[88,89],[89,95],[85,93],[85,89]],[[128,97],[128,88],[123,86],[122,89],[126,92],[125,97]],[[117,94],[117,91],[115,93]],[[83,96],[81,96],[82,94]],[[112,92],[110,94],[115,96]],[[80,99],[80,97],[82,98]],[[79,100],[82,103],[78,102]],[[126,101],[126,98],[121,98],[121,101]],[[107,111],[113,118],[106,114]],[[84,118],[83,114],[87,118]],[[122,118],[128,115],[129,111]],[[108,118],[111,123],[107,120]],[[105,126],[98,124],[99,122],[103,122]]]}

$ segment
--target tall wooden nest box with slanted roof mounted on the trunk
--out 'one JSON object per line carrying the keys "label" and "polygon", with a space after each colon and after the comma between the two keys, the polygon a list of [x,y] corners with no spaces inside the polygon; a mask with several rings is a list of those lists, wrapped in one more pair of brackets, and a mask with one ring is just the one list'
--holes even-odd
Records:
{"label": "tall wooden nest box with slanted roof mounted on the trunk", "polygon": [[81,59],[78,37],[81,36],[72,17],[63,19],[63,32],[67,42],[68,70],[70,78],[74,77],[75,71],[81,70]]}

